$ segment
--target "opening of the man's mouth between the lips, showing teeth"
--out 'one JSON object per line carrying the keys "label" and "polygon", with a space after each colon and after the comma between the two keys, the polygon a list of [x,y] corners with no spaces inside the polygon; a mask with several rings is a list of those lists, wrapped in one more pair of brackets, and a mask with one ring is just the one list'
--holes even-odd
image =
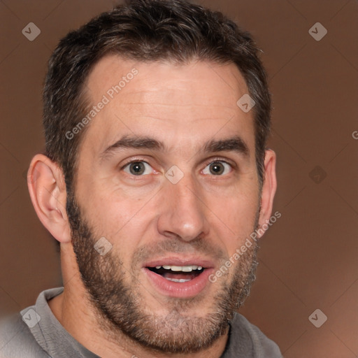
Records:
{"label": "opening of the man's mouth between the lips, showing teeth", "polygon": [[155,267],[148,267],[148,270],[156,273],[157,275],[161,275],[162,278],[165,278],[171,282],[189,282],[194,280],[194,278],[198,277],[206,270],[202,266],[196,265],[188,265],[188,266],[170,266],[170,265],[163,265],[163,266],[155,266]]}

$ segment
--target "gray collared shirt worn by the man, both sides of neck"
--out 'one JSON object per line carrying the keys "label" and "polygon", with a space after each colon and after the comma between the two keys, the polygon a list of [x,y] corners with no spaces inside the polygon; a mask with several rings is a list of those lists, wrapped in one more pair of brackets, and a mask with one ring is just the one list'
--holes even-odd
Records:
{"label": "gray collared shirt worn by the man, both sides of neck", "polygon": [[[53,315],[48,300],[63,287],[47,289],[34,306],[0,323],[1,358],[99,358],[78,343]],[[231,320],[229,339],[220,358],[280,358],[278,345],[248,320],[236,313]]]}

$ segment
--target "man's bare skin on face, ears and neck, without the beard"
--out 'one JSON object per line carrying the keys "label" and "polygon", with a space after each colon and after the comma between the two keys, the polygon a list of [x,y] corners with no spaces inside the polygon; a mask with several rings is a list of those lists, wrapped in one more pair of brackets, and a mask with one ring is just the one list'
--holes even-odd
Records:
{"label": "man's bare skin on face, ears and neck, without the beard", "polygon": [[[190,248],[203,241],[222,255],[199,251],[210,259],[215,271],[231,257],[258,225],[269,219],[275,194],[275,153],[266,150],[264,185],[259,192],[255,162],[253,110],[244,113],[236,101],[248,93],[234,64],[192,62],[185,65],[141,63],[109,56],[101,59],[87,79],[92,103],[117,84],[131,69],[134,77],[96,115],[80,145],[76,199],[96,238],[105,236],[110,252],[122,268],[136,276],[124,278],[134,294],[143,299],[145,312],[164,320],[180,299],[168,297],[151,285],[141,270],[141,260],[132,260],[138,248],[159,248],[166,241]],[[126,148],[101,157],[122,136],[148,136],[165,149]],[[248,155],[234,150],[203,152],[212,140],[239,136]],[[64,138],[64,141],[67,139]],[[131,175],[128,162],[145,161],[146,175]],[[214,176],[210,163],[225,161],[224,174]],[[165,173],[176,165],[184,174],[177,183]],[[227,331],[205,350],[185,354],[162,354],[138,345],[124,334],[110,334],[110,327],[90,301],[80,278],[71,243],[66,213],[66,187],[59,166],[36,155],[29,169],[29,192],[38,217],[61,243],[64,293],[49,301],[62,326],[87,349],[101,357],[220,357]],[[151,253],[150,259],[156,259]],[[186,253],[180,251],[180,257]],[[163,257],[160,256],[160,257]],[[165,255],[164,255],[165,257]],[[239,260],[238,260],[239,261]],[[235,268],[210,283],[192,303],[182,308],[185,317],[204,318],[213,310],[215,292],[234,280]],[[220,283],[221,282],[221,283]],[[221,285],[221,286],[220,286]]]}

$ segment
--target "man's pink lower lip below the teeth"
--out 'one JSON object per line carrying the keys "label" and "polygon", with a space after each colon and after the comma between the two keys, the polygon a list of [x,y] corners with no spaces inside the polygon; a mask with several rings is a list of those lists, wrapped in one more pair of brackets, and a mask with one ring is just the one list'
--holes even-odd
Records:
{"label": "man's pink lower lip below the teeth", "polygon": [[187,282],[173,282],[166,280],[162,275],[158,275],[148,268],[143,268],[152,285],[165,296],[189,298],[196,296],[210,284],[209,275],[213,268],[206,268],[199,276]]}

